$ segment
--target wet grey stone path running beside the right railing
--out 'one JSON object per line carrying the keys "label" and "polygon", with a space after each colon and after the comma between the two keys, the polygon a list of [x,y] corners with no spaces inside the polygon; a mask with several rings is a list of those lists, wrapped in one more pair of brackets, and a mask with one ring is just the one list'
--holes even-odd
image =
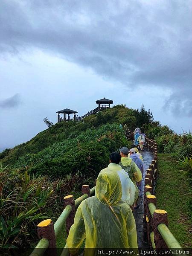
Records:
{"label": "wet grey stone path running beside the right railing", "polygon": [[[153,160],[153,153],[149,152],[148,150],[141,151],[141,154],[143,156],[143,162],[144,162],[144,172],[143,172],[143,193],[144,193],[144,186],[145,186],[145,175],[147,172],[147,169],[149,165],[151,164],[151,161]],[[144,244],[143,241],[143,193],[142,197],[140,197],[137,201],[137,204],[139,204],[139,208],[134,210],[134,218],[136,222],[137,227],[137,243],[138,247],[140,249],[148,248],[148,244]]]}

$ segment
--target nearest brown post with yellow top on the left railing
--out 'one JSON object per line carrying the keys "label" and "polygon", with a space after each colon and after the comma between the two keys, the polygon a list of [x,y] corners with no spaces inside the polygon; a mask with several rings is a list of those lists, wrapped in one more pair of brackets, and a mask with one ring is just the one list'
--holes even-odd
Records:
{"label": "nearest brown post with yellow top on the left railing", "polygon": [[49,250],[47,251],[47,255],[57,255],[55,230],[51,219],[41,221],[38,224],[38,238],[47,239],[49,241]]}

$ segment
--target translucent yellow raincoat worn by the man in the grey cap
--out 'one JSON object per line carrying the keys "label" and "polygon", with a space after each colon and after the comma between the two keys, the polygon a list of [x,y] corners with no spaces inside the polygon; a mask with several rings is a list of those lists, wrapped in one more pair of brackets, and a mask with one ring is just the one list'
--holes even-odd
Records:
{"label": "translucent yellow raincoat worn by the man in the grey cap", "polygon": [[139,196],[137,182],[142,180],[142,173],[140,169],[138,168],[137,164],[134,163],[134,161],[128,157],[121,157],[121,162],[119,163],[119,165],[125,170],[125,172],[128,172],[130,179],[133,181],[136,188],[135,200],[137,200]]}

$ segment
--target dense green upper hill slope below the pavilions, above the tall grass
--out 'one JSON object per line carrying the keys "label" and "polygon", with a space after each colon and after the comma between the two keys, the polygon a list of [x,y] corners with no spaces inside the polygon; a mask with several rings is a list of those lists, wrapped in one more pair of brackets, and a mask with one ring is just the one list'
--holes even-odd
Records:
{"label": "dense green upper hill slope below the pavilions, above the tall grass", "polygon": [[99,172],[106,165],[111,151],[122,146],[119,124],[133,130],[149,123],[151,113],[117,105],[83,122],[60,122],[37,134],[32,140],[6,149],[0,154],[3,166],[47,175],[88,170]]}

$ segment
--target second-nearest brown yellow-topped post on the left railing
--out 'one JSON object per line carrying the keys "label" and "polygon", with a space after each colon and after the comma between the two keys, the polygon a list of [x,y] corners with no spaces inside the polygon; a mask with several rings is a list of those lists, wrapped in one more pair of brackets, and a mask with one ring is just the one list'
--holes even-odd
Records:
{"label": "second-nearest brown yellow-topped post on the left railing", "polygon": [[75,207],[75,200],[73,198],[73,195],[67,195],[64,197],[64,207],[66,207],[67,205],[70,205],[72,210],[70,212],[70,215],[67,217],[66,221],[65,221],[65,225],[66,225],[66,233],[67,236],[69,235],[69,231],[70,231],[70,227],[73,225],[74,223],[74,218],[76,215],[76,207]]}

